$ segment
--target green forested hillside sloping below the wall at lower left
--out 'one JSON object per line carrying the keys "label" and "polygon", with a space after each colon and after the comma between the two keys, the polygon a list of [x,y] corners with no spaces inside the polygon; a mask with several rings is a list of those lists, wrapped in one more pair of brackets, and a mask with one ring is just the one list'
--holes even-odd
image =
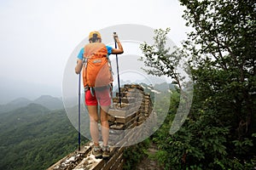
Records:
{"label": "green forested hillside sloping below the wall at lower left", "polygon": [[1,114],[0,136],[0,169],[6,170],[46,169],[78,146],[66,112],[38,104]]}

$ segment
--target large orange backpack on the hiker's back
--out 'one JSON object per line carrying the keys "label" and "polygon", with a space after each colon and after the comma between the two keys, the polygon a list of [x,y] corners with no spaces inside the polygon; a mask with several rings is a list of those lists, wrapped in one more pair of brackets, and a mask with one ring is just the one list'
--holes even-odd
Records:
{"label": "large orange backpack on the hiker's back", "polygon": [[84,46],[83,66],[84,87],[96,88],[108,86],[113,82],[108,49],[101,42],[93,42]]}

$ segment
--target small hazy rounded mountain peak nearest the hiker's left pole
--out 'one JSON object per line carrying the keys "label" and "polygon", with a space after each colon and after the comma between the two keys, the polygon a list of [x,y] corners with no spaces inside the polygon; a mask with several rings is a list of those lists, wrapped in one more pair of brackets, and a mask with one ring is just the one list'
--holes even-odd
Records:
{"label": "small hazy rounded mountain peak nearest the hiker's left pole", "polygon": [[49,110],[63,109],[63,103],[61,99],[52,97],[50,95],[42,95],[38,99],[35,99],[33,103],[44,105]]}

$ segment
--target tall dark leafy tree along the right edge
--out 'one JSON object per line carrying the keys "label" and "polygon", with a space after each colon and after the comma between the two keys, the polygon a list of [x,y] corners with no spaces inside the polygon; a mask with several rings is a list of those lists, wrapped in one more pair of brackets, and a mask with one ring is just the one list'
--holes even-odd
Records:
{"label": "tall dark leafy tree along the right edge", "polygon": [[187,26],[195,28],[183,46],[191,56],[197,102],[230,127],[229,152],[240,159],[252,156],[252,144],[242,143],[255,133],[256,5],[249,0],[180,2]]}

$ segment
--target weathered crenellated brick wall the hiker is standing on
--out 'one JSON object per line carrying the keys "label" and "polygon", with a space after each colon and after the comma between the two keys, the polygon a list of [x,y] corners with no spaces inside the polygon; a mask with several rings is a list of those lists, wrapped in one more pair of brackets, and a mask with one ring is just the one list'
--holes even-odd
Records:
{"label": "weathered crenellated brick wall the hiker is standing on", "polygon": [[[119,96],[117,94],[116,96]],[[96,159],[91,154],[92,143],[84,144],[81,150],[65,156],[48,170],[108,170],[123,169],[125,148],[146,139],[156,124],[156,114],[150,95],[140,85],[125,85],[119,97],[113,98],[113,107],[108,111],[110,157]],[[149,118],[150,116],[150,118]]]}

